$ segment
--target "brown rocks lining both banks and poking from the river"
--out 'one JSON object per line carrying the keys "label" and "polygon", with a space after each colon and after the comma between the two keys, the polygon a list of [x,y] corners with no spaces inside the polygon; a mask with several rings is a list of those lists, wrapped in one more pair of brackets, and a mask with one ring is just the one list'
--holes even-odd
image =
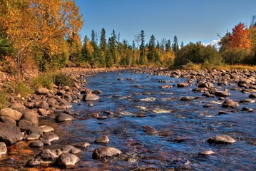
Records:
{"label": "brown rocks lining both banks and poking from the river", "polygon": [[[63,145],[61,149],[49,150],[46,145],[58,142],[60,137],[54,133],[54,129],[48,125],[41,125],[40,119],[47,118],[48,115],[53,115],[56,123],[66,122],[68,120],[76,120],[76,117],[71,115],[69,108],[72,103],[78,103],[81,100],[91,102],[100,98],[101,90],[90,90],[86,88],[85,76],[92,76],[98,72],[123,71],[124,68],[113,68],[106,71],[105,69],[88,70],[83,68],[64,68],[63,73],[74,79],[75,86],[57,87],[53,90],[39,88],[30,96],[26,102],[16,101],[10,98],[11,105],[9,108],[4,108],[0,111],[0,158],[8,155],[7,147],[24,140],[30,142],[31,147],[43,147],[43,150],[35,155],[25,167],[59,167],[65,168],[76,165],[80,159],[76,154],[81,152],[81,149],[88,147],[88,142],[80,142],[72,145]],[[131,68],[130,68],[131,69]],[[222,107],[227,109],[220,111],[219,114],[236,112],[237,110],[254,112],[252,108],[239,108],[240,103],[255,103],[256,98],[256,71],[224,71],[224,70],[204,70],[204,71],[169,71],[167,69],[145,69],[132,68],[132,73],[140,74],[147,73],[156,76],[169,76],[172,78],[187,78],[185,82],[177,83],[173,86],[178,88],[197,86],[194,92],[203,93],[206,97],[218,97],[223,100]],[[128,79],[128,78],[126,78]],[[165,83],[165,81],[163,81]],[[217,85],[217,86],[215,86]],[[228,89],[220,90],[222,86],[232,86],[231,90],[248,93],[248,98],[235,102],[229,99],[230,91]],[[161,88],[172,88],[169,85],[163,85]],[[184,96],[180,100],[194,100],[193,97]],[[89,103],[89,105],[93,105]],[[205,104],[205,108],[210,104]],[[54,114],[53,114],[54,113]],[[96,113],[92,113],[92,118],[99,118]],[[146,126],[143,128],[146,133],[155,135],[155,128]],[[159,135],[159,134],[158,134]],[[97,138],[95,143],[108,143],[109,139],[106,136]],[[235,142],[228,135],[216,135],[208,139],[209,143],[225,143],[232,144]],[[46,147],[46,149],[44,149]],[[100,146],[93,151],[93,159],[111,157],[120,155],[121,150],[115,147]],[[214,152],[200,152],[200,155],[209,155]]]}

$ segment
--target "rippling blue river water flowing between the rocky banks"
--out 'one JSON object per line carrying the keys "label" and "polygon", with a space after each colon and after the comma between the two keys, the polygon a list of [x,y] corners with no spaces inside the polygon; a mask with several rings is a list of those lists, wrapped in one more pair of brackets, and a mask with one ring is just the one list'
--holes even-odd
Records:
{"label": "rippling blue river water flowing between the rocky banks", "polygon": [[[73,170],[256,170],[255,113],[232,113],[231,109],[222,108],[223,101],[217,97],[206,98],[202,93],[194,93],[192,89],[197,86],[173,86],[186,82],[185,78],[123,71],[98,73],[86,77],[86,80],[87,88],[103,91],[100,100],[93,102],[92,107],[88,107],[87,102],[74,103],[75,121],[61,124],[53,120],[50,124],[41,121],[55,128],[57,135],[61,134],[61,140],[48,148],[73,142],[91,143],[90,147],[81,149],[78,154],[81,161]],[[173,88],[160,88],[164,84]],[[240,91],[230,90],[230,93],[229,98],[235,101],[248,97]],[[198,98],[180,100],[184,96]],[[205,104],[210,104],[210,107],[204,108]],[[256,110],[253,103],[241,104],[238,108],[245,106]],[[218,115],[220,110],[227,111],[227,114]],[[91,113],[108,118],[91,118]],[[145,133],[145,125],[152,126],[159,134]],[[222,134],[230,135],[236,142],[232,145],[207,142],[208,138]],[[107,135],[110,139],[107,145],[122,150],[123,155],[93,160],[92,152],[99,146],[93,141],[101,135]],[[215,154],[198,155],[204,150],[213,150]],[[5,162],[10,163],[9,167],[17,163],[10,159]],[[0,162],[1,165],[4,164]]]}

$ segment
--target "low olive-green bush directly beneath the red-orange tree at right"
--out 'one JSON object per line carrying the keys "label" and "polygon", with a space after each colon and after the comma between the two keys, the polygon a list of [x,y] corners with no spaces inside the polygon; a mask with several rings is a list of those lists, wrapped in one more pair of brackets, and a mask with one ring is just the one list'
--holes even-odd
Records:
{"label": "low olive-green bush directly beneath the red-orange tree at right", "polygon": [[248,49],[242,48],[227,48],[222,53],[222,58],[225,63],[234,65],[234,64],[253,64],[254,59],[252,53]]}

